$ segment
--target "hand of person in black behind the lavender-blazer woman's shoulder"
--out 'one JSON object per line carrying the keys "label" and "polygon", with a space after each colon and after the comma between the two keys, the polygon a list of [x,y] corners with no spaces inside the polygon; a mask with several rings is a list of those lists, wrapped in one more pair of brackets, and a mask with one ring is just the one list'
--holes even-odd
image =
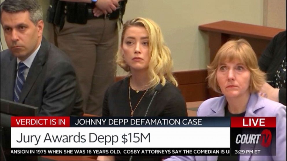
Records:
{"label": "hand of person in black behind the lavender-blazer woman's shoulder", "polygon": [[279,102],[279,89],[278,88],[273,88],[271,85],[268,83],[264,83],[262,86],[259,95],[261,97],[265,97],[268,99],[271,99],[273,101]]}

